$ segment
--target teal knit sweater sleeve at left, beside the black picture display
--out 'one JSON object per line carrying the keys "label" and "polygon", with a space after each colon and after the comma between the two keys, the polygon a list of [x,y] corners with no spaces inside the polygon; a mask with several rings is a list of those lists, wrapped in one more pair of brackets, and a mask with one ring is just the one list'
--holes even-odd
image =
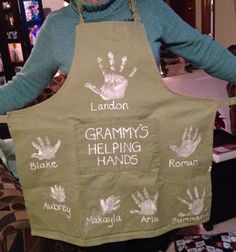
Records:
{"label": "teal knit sweater sleeve at left, beside the black picture display", "polygon": [[0,114],[22,108],[32,101],[57,71],[53,47],[55,34],[50,19],[49,16],[42,25],[36,45],[22,71],[0,87]]}

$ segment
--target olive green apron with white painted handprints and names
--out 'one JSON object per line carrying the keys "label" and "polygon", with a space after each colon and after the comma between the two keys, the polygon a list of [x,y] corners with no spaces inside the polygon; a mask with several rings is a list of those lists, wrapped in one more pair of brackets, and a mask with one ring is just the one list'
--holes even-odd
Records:
{"label": "olive green apron with white painted handprints and names", "polygon": [[171,92],[130,6],[81,18],[63,87],[7,115],[33,235],[94,246],[209,219],[215,114],[236,100]]}

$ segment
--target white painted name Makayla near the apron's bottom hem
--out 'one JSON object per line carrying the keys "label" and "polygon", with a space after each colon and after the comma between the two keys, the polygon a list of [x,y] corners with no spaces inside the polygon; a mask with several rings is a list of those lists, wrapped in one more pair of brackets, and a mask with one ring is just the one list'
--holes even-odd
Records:
{"label": "white painted name Makayla near the apron's bottom hem", "polygon": [[112,216],[90,216],[86,217],[86,225],[99,225],[107,224],[109,228],[112,228],[116,222],[122,222],[120,215],[113,214]]}

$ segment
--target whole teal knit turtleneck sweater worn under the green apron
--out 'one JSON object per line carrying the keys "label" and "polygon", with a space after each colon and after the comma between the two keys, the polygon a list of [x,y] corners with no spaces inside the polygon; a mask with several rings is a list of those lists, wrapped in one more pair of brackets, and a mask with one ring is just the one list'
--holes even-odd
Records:
{"label": "whole teal knit turtleneck sweater worn under the green apron", "polygon": [[[80,17],[75,4],[51,13],[23,70],[0,87],[0,114],[22,108],[47,86],[60,69],[68,74],[74,50],[75,26]],[[236,57],[208,36],[183,22],[163,0],[137,0],[142,23],[158,62],[160,43],[209,74],[236,83]],[[128,0],[86,4],[85,22],[131,19]]]}

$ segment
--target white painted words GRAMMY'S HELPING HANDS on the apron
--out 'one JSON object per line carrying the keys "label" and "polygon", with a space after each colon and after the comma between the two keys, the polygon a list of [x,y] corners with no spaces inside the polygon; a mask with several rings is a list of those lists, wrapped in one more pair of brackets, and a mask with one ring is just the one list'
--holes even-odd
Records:
{"label": "white painted words GRAMMY'S HELPING HANDS on the apron", "polygon": [[143,151],[142,144],[149,134],[149,127],[143,124],[87,128],[87,154],[97,156],[97,166],[137,165],[138,153]]}

